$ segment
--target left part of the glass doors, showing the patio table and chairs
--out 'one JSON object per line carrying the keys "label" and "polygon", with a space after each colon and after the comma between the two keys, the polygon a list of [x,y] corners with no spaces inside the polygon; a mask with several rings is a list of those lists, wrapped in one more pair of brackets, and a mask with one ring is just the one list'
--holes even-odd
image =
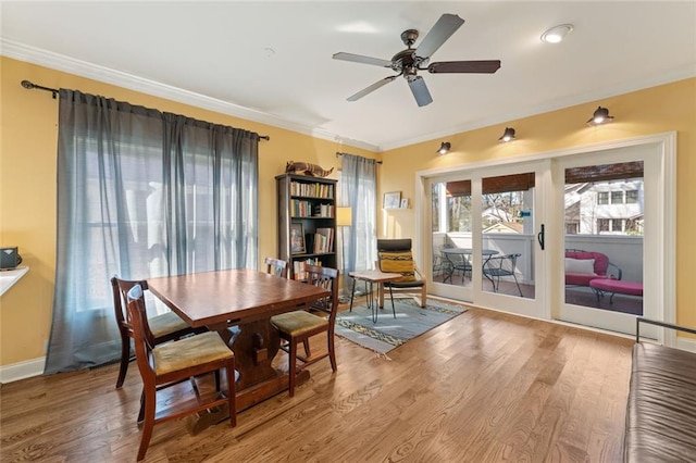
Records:
{"label": "left part of the glass doors, showing the patio table and chairs", "polygon": [[543,314],[547,161],[434,177],[432,292],[529,316]]}

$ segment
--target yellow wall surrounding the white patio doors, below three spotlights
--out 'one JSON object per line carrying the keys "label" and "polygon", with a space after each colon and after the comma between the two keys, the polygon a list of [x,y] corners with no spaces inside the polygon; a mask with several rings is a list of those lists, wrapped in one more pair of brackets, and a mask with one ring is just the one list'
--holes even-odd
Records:
{"label": "yellow wall surrounding the white patio doors, below three spotlights", "polygon": [[[589,127],[585,121],[598,105],[610,110],[614,122]],[[498,143],[505,127],[518,139]],[[676,130],[676,321],[696,326],[696,262],[693,216],[696,213],[696,78],[606,98],[576,107],[510,121],[505,124],[443,137],[383,153],[383,191],[401,191],[414,198],[415,172],[490,160],[514,159],[546,151],[594,145]],[[450,154],[437,155],[442,141]],[[378,229],[384,237],[414,237],[415,211],[382,211]]]}

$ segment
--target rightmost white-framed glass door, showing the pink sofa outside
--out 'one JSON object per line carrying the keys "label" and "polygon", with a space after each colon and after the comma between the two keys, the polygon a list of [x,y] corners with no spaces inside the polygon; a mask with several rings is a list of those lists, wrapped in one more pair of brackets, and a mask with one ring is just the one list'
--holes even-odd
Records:
{"label": "rightmost white-framed glass door, showing the pink sofa outside", "polygon": [[655,145],[554,161],[554,183],[563,190],[555,196],[562,230],[555,256],[564,275],[556,318],[634,334],[636,316],[661,317],[660,279],[650,277],[661,266],[661,172]]}

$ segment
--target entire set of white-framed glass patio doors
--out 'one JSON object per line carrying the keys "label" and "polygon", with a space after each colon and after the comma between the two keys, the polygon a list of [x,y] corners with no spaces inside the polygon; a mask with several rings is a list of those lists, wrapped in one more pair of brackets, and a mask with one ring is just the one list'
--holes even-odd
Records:
{"label": "entire set of white-framed glass patio doors", "polygon": [[[673,323],[674,164],[675,134],[662,134],[420,172],[417,223],[428,291],[623,334],[634,334],[641,315]],[[593,265],[585,283],[569,278],[573,250],[585,262],[571,265]],[[515,254],[513,270],[497,275],[502,258]],[[675,342],[660,328],[646,334]]]}

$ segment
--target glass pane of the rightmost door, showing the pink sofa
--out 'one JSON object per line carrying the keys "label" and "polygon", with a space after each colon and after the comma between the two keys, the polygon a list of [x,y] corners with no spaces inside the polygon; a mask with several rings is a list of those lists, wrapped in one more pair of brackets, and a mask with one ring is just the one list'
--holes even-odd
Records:
{"label": "glass pane of the rightmost door, showing the pink sofa", "polygon": [[566,303],[643,315],[643,161],[564,170]]}

